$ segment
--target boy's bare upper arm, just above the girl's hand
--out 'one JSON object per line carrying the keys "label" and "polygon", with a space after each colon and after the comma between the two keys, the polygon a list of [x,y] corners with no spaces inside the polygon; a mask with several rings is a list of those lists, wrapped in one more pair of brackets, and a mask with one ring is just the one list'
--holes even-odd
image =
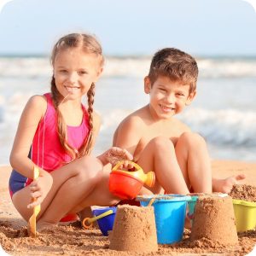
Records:
{"label": "boy's bare upper arm, just above the girl's hand", "polygon": [[123,120],[113,135],[113,146],[125,148],[134,155],[137,144],[140,142],[143,131],[143,122],[138,117],[128,117]]}

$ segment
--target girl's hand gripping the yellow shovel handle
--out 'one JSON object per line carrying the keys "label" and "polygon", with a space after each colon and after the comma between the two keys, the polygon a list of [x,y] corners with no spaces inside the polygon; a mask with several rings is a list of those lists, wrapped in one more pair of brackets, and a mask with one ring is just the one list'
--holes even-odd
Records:
{"label": "girl's hand gripping the yellow shovel handle", "polygon": [[32,197],[31,203],[27,208],[33,208],[44,201],[44,198],[49,193],[49,189],[52,186],[52,177],[48,172],[45,172],[42,176],[39,176],[37,180],[32,181],[30,186],[30,195]]}

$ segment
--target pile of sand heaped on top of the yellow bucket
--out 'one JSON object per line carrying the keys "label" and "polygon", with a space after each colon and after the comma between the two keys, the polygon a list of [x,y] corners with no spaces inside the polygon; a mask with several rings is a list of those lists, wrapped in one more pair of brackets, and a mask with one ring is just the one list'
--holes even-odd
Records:
{"label": "pile of sand heaped on top of the yellow bucket", "polygon": [[256,202],[256,187],[246,184],[236,184],[230,191],[233,199]]}

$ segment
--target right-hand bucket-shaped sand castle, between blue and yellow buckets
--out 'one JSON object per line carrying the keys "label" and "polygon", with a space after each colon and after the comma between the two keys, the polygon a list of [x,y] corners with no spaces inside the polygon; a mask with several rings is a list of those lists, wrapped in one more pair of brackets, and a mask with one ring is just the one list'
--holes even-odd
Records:
{"label": "right-hand bucket-shaped sand castle, between blue and yellow buckets", "polygon": [[195,206],[191,240],[202,238],[221,245],[237,244],[235,214],[230,196],[199,196]]}

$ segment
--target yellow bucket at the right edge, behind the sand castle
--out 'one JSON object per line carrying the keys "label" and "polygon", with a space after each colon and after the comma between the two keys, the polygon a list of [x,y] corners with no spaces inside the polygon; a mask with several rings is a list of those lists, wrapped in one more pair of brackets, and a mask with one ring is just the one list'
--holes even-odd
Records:
{"label": "yellow bucket at the right edge, behind the sand castle", "polygon": [[233,199],[236,231],[254,230],[256,227],[256,202]]}

